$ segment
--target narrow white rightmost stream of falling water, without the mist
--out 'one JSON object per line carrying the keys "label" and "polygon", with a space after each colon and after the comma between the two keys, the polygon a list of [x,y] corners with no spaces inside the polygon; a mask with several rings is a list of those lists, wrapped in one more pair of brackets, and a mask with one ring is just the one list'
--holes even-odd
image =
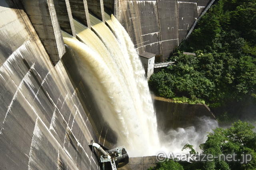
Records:
{"label": "narrow white rightmost stream of falling water, without the mist", "polygon": [[118,37],[118,41],[121,46],[123,48],[126,48],[132,64],[132,69],[134,70],[134,79],[136,80],[137,89],[139,90],[140,95],[140,104],[143,109],[142,116],[143,119],[146,119],[147,121],[146,125],[148,125],[148,130],[151,131],[151,138],[154,139],[154,141],[152,141],[152,144],[154,145],[152,146],[156,146],[155,148],[159,148],[157,147],[159,146],[159,139],[157,133],[156,115],[154,113],[153,102],[148,89],[148,82],[144,78],[145,72],[142,67],[142,63],[139,59],[136,49],[134,48],[132,40],[130,39],[130,36],[128,35],[124,27],[118,22],[118,20],[116,20],[113,15],[111,16],[111,21],[115,28],[114,33]]}

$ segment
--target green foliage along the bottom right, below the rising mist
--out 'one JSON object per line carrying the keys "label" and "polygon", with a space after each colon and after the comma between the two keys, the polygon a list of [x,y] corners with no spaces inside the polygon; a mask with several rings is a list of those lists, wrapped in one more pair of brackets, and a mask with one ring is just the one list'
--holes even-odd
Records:
{"label": "green foliage along the bottom right, below the rising mist", "polygon": [[[252,125],[241,121],[227,129],[216,128],[214,132],[208,134],[206,142],[200,145],[202,150],[200,155],[212,155],[212,159],[207,160],[206,157],[203,159],[201,157],[200,160],[203,161],[196,161],[195,158],[191,163],[180,162],[180,164],[184,170],[256,170],[256,132],[253,128]],[[186,144],[183,149],[189,149],[190,154],[196,154],[190,144]],[[224,155],[228,156],[228,154],[236,156],[234,159],[224,159]],[[244,161],[245,158],[248,162]],[[179,162],[169,161],[159,163],[154,170],[181,169],[178,166]],[[172,166],[174,163],[175,166]],[[169,166],[173,168],[168,169]]]}

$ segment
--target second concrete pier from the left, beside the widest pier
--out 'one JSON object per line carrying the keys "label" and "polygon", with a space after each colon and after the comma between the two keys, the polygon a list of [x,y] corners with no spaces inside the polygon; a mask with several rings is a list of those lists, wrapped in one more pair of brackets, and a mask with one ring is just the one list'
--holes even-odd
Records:
{"label": "second concrete pier from the left, beside the widest pier", "polygon": [[76,37],[69,0],[53,0],[60,28]]}

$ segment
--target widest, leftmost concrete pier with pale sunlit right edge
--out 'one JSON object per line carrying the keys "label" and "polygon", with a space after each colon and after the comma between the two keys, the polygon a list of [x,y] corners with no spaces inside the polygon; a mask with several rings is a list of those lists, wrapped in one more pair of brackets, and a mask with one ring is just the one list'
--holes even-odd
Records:
{"label": "widest, leftmost concrete pier with pale sunlit right edge", "polygon": [[16,6],[20,6],[20,2],[52,62],[58,62],[65,53],[65,47],[53,1],[16,0]]}

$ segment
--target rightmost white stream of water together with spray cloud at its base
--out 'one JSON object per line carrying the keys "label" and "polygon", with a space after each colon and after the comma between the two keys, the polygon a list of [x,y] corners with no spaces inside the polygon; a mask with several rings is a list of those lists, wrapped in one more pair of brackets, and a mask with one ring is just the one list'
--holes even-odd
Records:
{"label": "rightmost white stream of water together with spray cloud at its base", "polygon": [[[198,127],[178,128],[176,130],[170,130],[168,134],[158,132],[156,130],[156,116],[148,89],[148,83],[142,77],[144,70],[141,67],[140,59],[132,40],[124,27],[113,15],[111,16],[111,22],[109,20],[106,22],[116,35],[121,47],[124,48],[123,51],[127,50],[132,67],[135,70],[134,77],[136,79],[137,88],[140,89],[140,100],[142,102],[141,105],[143,106],[142,115],[144,118],[147,118],[146,125],[148,125],[148,130],[151,131],[149,135],[152,135],[150,138],[154,139],[148,146],[148,148],[152,149],[152,152],[149,155],[156,155],[157,152],[165,152],[166,156],[168,156],[170,152],[173,154],[188,153],[186,150],[182,151],[183,146],[187,143],[194,145],[195,150],[199,152],[199,144],[206,141],[207,133],[212,132],[213,128],[218,127],[218,122],[209,117],[201,117],[198,118]],[[145,154],[141,156],[149,155],[145,152]]]}

